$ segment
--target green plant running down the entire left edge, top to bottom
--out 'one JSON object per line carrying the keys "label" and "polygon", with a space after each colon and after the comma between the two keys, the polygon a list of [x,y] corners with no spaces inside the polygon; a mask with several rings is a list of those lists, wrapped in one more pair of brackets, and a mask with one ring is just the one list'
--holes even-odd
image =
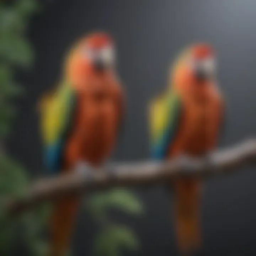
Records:
{"label": "green plant running down the entire left edge, top to bottom", "polygon": [[22,92],[16,84],[16,71],[28,69],[33,61],[26,30],[37,10],[36,0],[0,2],[0,255],[6,256],[12,255],[18,243],[30,255],[45,255],[41,234],[46,220],[45,206],[15,218],[4,211],[6,198],[22,196],[30,183],[27,172],[10,158],[4,143],[15,116],[13,100]]}

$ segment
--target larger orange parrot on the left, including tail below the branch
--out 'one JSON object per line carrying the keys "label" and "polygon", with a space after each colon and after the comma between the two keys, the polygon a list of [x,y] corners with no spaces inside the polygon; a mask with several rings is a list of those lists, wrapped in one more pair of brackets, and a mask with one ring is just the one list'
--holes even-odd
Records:
{"label": "larger orange parrot on the left, including tail below the branch", "polygon": [[[53,175],[103,165],[111,154],[124,109],[115,50],[105,32],[80,39],[65,59],[58,86],[41,100],[44,162]],[[50,256],[69,250],[78,208],[78,195],[54,202]]]}

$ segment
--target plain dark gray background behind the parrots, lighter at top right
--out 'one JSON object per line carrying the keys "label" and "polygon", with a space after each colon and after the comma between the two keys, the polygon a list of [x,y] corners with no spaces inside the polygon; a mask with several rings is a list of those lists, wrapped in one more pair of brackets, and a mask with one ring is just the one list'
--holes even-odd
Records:
{"label": "plain dark gray background behind the parrots, lighter at top right", "polygon": [[[165,87],[168,66],[194,42],[211,43],[218,55],[218,81],[225,94],[227,121],[220,146],[255,135],[255,0],[73,0],[52,1],[33,18],[36,50],[31,73],[20,75],[27,90],[9,142],[11,153],[32,174],[42,170],[36,102],[59,79],[66,50],[94,29],[111,32],[118,44],[118,72],[127,91],[124,134],[118,160],[148,158],[146,106]],[[246,171],[246,172],[245,172]],[[206,181],[203,200],[204,255],[256,255],[256,173],[253,168]],[[137,255],[176,255],[169,197],[163,188],[137,190],[147,213],[118,215],[142,240]],[[80,218],[75,255],[90,251],[94,226]]]}

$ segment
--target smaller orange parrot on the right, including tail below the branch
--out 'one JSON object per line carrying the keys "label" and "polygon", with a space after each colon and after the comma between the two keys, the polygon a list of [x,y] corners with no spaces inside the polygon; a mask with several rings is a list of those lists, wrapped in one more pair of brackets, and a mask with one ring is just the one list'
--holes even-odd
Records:
{"label": "smaller orange parrot on the right, including tail below the branch", "polygon": [[[149,106],[150,151],[154,159],[205,157],[220,135],[224,101],[216,82],[214,49],[197,43],[178,56],[167,89]],[[199,177],[177,177],[168,185],[174,192],[177,247],[181,255],[201,250]]]}

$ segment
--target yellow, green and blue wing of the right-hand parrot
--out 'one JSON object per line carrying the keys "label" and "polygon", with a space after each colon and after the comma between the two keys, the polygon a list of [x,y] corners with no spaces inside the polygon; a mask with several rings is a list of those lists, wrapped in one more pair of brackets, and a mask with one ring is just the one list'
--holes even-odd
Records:
{"label": "yellow, green and blue wing of the right-hand parrot", "polygon": [[158,97],[150,105],[151,156],[163,159],[175,137],[181,117],[181,99],[174,92]]}

